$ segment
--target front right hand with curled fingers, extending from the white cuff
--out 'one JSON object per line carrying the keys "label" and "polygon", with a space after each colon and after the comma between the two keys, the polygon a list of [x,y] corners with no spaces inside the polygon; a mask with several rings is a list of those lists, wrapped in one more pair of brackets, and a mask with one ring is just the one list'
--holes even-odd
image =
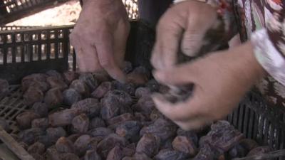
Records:
{"label": "front right hand with curled fingers, extending from the white cuff", "polygon": [[227,116],[244,94],[264,75],[251,43],[199,58],[191,63],[154,76],[165,85],[194,84],[192,97],[177,103],[164,95],[155,94],[153,100],[160,112],[182,129],[197,129]]}

